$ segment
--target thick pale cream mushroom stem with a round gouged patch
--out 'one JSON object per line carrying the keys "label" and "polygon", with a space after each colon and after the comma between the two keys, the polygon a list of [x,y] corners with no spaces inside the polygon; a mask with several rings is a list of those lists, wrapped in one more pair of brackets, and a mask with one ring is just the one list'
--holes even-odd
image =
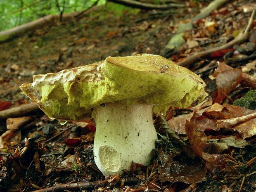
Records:
{"label": "thick pale cream mushroom stem with a round gouged patch", "polygon": [[103,175],[129,170],[134,161],[150,164],[157,139],[152,120],[152,105],[107,103],[93,109],[96,121],[95,163]]}

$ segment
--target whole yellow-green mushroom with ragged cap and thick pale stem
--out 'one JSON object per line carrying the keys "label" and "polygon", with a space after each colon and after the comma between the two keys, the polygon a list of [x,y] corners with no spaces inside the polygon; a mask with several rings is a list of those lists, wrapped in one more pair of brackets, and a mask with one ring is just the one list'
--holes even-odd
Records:
{"label": "whole yellow-green mushroom with ragged cap and thick pale stem", "polygon": [[202,100],[205,83],[159,55],[107,57],[105,61],[33,76],[21,90],[52,118],[96,122],[94,156],[104,175],[132,161],[149,165],[157,138],[152,106],[186,107]]}

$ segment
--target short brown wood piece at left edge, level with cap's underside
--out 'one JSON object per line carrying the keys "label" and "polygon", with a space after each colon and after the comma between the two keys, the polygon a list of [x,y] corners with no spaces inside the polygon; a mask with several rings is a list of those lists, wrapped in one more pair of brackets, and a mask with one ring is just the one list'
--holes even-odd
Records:
{"label": "short brown wood piece at left edge, level with cap's underside", "polygon": [[36,111],[40,111],[36,103],[23,104],[19,107],[0,111],[0,120],[5,120],[9,117],[20,117]]}

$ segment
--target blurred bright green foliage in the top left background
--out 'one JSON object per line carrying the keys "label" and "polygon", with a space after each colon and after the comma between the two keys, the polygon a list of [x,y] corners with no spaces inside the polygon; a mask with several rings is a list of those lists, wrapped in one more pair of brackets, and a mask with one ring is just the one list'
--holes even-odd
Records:
{"label": "blurred bright green foliage in the top left background", "polygon": [[[94,3],[94,0],[1,0],[0,31],[25,24],[48,14],[79,12],[88,9]],[[105,3],[106,0],[99,0],[97,5],[104,5]]]}

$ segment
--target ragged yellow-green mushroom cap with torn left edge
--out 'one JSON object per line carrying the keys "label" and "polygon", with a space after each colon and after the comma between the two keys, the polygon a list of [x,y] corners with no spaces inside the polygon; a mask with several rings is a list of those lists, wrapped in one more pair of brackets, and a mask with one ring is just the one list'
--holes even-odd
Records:
{"label": "ragged yellow-green mushroom cap with torn left edge", "polygon": [[21,90],[56,119],[81,120],[107,102],[186,107],[202,100],[204,81],[159,55],[107,57],[105,61],[33,76]]}

